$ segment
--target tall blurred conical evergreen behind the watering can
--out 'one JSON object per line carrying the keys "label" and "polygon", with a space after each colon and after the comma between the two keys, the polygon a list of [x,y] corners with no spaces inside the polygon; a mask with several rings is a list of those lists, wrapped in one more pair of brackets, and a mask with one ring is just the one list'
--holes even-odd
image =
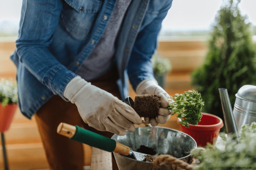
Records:
{"label": "tall blurred conical evergreen behind the watering can", "polygon": [[250,23],[240,14],[240,0],[223,1],[218,11],[204,63],[191,73],[192,86],[205,101],[203,112],[223,119],[219,88],[226,88],[230,103],[243,85],[256,85],[255,44]]}

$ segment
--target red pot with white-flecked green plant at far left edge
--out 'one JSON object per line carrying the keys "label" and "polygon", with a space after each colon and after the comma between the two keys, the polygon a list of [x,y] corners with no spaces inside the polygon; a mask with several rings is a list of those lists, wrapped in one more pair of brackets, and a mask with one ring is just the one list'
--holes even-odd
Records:
{"label": "red pot with white-flecked green plant at far left edge", "polygon": [[9,129],[18,107],[17,83],[12,79],[0,79],[0,131]]}

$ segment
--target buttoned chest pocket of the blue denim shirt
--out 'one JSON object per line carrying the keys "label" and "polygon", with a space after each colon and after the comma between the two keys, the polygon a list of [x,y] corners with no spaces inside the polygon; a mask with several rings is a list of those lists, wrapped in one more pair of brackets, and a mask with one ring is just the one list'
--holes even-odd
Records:
{"label": "buttoned chest pocket of the blue denim shirt", "polygon": [[101,0],[64,0],[60,23],[73,38],[83,39],[92,30],[101,5]]}

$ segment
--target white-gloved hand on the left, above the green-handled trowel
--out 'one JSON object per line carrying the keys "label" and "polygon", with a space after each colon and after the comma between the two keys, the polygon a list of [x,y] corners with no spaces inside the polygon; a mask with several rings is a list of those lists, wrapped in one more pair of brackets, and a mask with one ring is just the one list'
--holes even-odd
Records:
{"label": "white-gloved hand on the left, above the green-handled trowel", "polygon": [[[125,135],[135,131],[132,124],[141,124],[140,116],[129,105],[80,76],[73,78],[65,88],[64,97],[76,104],[85,123],[100,130]],[[125,130],[126,129],[126,130]]]}

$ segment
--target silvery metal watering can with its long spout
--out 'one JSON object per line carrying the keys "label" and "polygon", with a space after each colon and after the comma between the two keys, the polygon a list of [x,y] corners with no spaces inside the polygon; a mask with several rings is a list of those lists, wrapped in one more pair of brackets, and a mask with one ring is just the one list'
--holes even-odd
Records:
{"label": "silvery metal watering can with its long spout", "polygon": [[233,111],[227,89],[219,88],[219,92],[227,134],[239,137],[243,125],[256,122],[256,86],[244,85],[238,90]]}

